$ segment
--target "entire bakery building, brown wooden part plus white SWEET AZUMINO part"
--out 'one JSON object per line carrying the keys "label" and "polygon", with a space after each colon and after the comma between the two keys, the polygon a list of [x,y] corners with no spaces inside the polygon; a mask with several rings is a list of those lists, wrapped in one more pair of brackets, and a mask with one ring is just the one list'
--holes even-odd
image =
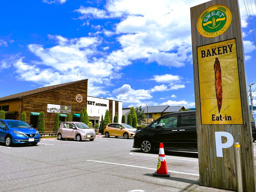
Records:
{"label": "entire bakery building, brown wooden part plus white SWEET AZUMINO part", "polygon": [[45,131],[52,131],[55,114],[59,113],[60,121],[67,121],[71,113],[72,121],[79,121],[80,111],[86,107],[89,120],[100,123],[101,115],[110,111],[110,121],[118,115],[122,119],[122,102],[87,96],[88,79],[42,87],[31,91],[17,93],[0,98],[0,110],[5,111],[5,119],[20,119],[26,113],[27,123],[37,128],[38,116],[45,113]]}

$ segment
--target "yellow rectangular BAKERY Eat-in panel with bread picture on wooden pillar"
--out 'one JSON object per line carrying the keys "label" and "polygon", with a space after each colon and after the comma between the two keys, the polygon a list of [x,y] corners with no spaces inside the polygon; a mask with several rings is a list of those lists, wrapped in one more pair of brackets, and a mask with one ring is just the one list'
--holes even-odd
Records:
{"label": "yellow rectangular BAKERY Eat-in panel with bread picture on wooden pillar", "polygon": [[236,39],[197,47],[202,125],[241,125]]}

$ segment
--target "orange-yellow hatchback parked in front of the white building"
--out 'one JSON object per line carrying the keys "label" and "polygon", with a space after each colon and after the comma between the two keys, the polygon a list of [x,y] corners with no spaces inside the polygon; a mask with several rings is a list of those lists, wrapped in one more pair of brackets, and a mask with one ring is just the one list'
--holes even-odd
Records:
{"label": "orange-yellow hatchback parked in front of the white building", "polygon": [[104,135],[105,137],[115,136],[124,137],[128,139],[135,135],[136,129],[125,123],[109,123],[105,126]]}

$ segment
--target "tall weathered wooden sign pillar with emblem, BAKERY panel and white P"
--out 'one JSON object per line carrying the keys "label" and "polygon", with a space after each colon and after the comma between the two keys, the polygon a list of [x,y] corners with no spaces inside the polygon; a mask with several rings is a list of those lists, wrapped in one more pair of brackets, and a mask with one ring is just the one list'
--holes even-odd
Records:
{"label": "tall weathered wooden sign pillar with emblem, BAKERY panel and white P", "polygon": [[233,143],[238,142],[243,190],[254,192],[254,155],[238,0],[209,1],[191,7],[190,16],[200,185],[237,190]]}

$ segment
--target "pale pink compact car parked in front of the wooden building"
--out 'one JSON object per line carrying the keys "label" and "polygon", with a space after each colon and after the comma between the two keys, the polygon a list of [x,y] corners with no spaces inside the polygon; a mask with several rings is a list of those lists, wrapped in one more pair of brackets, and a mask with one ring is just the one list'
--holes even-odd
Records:
{"label": "pale pink compact car parked in front of the wooden building", "polygon": [[62,122],[60,124],[58,133],[58,140],[62,138],[76,139],[77,141],[82,141],[84,139],[89,139],[93,141],[96,137],[94,129],[90,129],[88,125],[81,122]]}

